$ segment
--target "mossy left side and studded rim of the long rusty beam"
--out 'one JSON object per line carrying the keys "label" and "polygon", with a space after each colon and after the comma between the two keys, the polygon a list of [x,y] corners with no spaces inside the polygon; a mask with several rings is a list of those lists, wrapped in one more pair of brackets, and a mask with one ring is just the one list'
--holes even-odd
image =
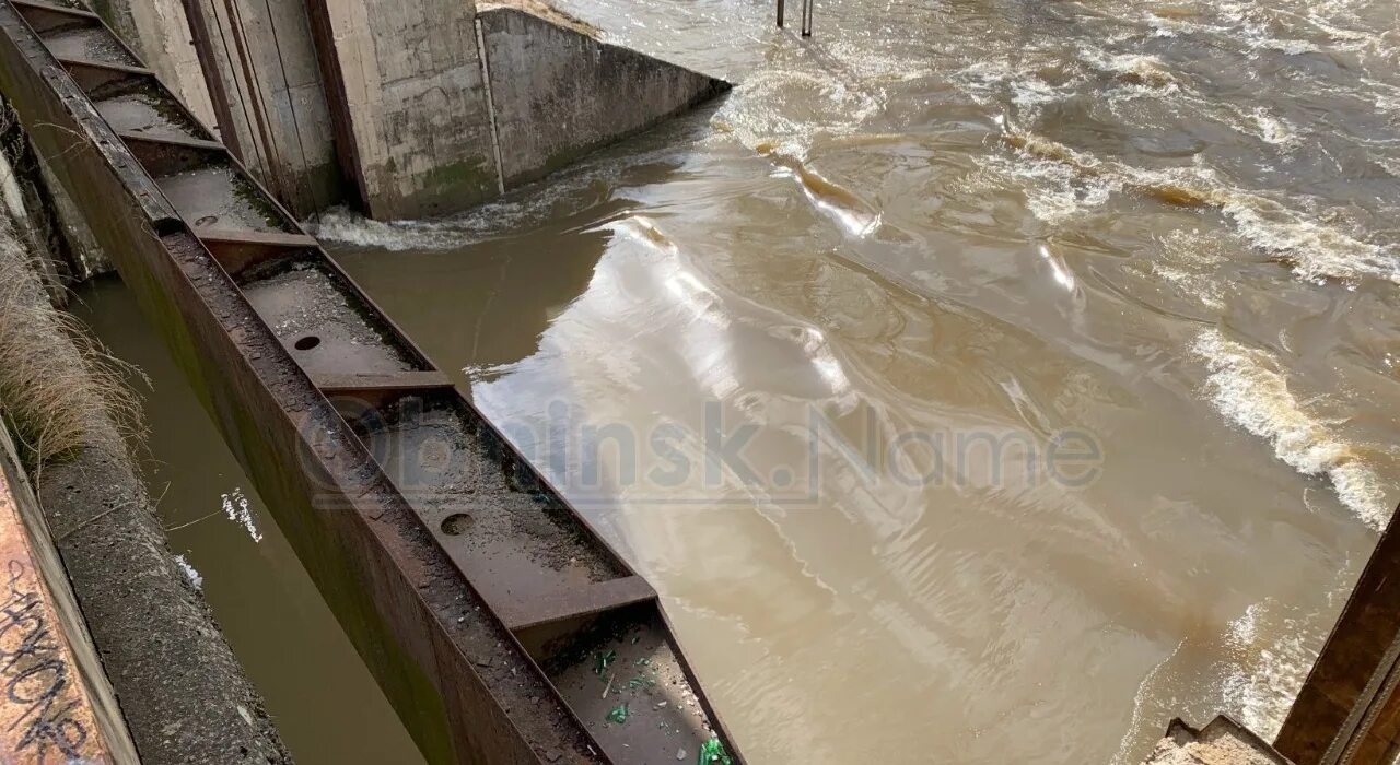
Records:
{"label": "mossy left side and studded rim of the long rusty beam", "polygon": [[[7,1],[0,1],[0,91],[92,218],[181,366],[203,380],[195,386],[203,403],[427,758],[603,761],[514,636],[489,617],[354,434]],[[318,508],[315,498],[335,509]],[[531,705],[529,698],[539,701]]]}

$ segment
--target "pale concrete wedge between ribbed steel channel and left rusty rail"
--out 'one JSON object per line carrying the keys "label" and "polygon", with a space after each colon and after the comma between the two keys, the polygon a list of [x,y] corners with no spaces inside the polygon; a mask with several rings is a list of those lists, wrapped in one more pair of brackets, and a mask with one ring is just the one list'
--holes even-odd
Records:
{"label": "pale concrete wedge between ribbed steel channel and left rusty rail", "polygon": [[91,4],[196,117],[209,126],[217,122],[181,0],[91,0]]}

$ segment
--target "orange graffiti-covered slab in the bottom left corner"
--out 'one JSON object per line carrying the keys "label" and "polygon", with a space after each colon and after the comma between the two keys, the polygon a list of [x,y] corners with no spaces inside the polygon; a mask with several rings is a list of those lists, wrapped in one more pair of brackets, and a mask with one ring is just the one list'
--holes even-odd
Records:
{"label": "orange graffiti-covered slab in the bottom left corner", "polygon": [[[137,762],[67,571],[0,425],[0,761]],[[35,699],[35,701],[31,701]]]}

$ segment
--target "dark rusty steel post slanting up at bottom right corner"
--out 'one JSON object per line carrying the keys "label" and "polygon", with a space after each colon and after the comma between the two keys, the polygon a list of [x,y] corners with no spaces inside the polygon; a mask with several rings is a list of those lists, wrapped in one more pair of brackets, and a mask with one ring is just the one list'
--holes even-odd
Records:
{"label": "dark rusty steel post slanting up at bottom right corner", "polygon": [[1383,765],[1400,747],[1400,520],[1392,520],[1274,747],[1298,765]]}

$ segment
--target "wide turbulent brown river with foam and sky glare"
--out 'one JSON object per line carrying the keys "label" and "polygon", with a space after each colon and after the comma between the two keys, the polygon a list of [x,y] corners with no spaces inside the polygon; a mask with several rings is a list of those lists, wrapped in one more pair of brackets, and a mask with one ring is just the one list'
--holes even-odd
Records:
{"label": "wide turbulent brown river with foam and sky glare", "polygon": [[321,234],[657,585],[746,755],[1271,734],[1400,499],[1396,3],[561,7],[738,87]]}

